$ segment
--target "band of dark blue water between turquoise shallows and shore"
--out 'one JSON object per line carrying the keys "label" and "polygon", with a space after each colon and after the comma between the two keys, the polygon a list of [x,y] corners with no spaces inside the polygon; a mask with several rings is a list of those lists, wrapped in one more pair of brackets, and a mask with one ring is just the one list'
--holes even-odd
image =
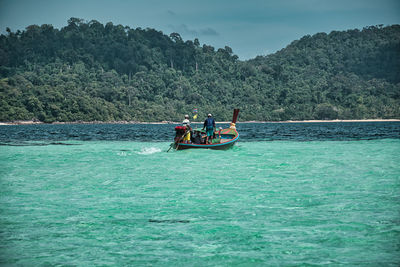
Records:
{"label": "band of dark blue water between turquoise shallows and shore", "polygon": [[[0,143],[24,141],[143,141],[166,142],[174,124],[61,124],[0,126]],[[201,127],[201,125],[197,125]],[[195,126],[195,127],[197,127]],[[228,127],[219,124],[218,127]],[[241,142],[253,141],[351,141],[399,139],[400,122],[242,123]]]}

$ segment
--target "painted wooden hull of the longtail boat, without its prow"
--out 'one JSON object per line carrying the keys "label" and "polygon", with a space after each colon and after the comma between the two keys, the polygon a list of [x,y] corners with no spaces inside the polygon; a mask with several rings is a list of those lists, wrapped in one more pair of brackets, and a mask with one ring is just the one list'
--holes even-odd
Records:
{"label": "painted wooden hull of the longtail boat, without its prow", "polygon": [[215,132],[216,137],[212,144],[195,144],[195,143],[177,143],[174,144],[174,149],[184,150],[190,148],[202,148],[202,149],[216,149],[216,150],[226,150],[231,148],[238,140],[239,133],[236,129],[222,129],[221,138],[219,138],[219,132]]}

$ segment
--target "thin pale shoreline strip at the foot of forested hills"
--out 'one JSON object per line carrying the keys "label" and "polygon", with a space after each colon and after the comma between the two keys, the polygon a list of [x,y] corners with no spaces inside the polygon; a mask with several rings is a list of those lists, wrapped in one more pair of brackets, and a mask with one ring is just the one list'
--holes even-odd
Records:
{"label": "thin pale shoreline strip at the foot of forested hills", "polygon": [[[238,123],[335,123],[335,122],[400,122],[400,119],[365,119],[365,120],[302,120],[302,121],[239,121]],[[219,121],[217,124],[226,124],[230,121]],[[37,124],[181,124],[181,122],[173,121],[161,121],[161,122],[140,122],[140,121],[74,121],[74,122],[52,122],[44,123],[41,121],[12,121],[12,122],[0,122],[2,125],[37,125]],[[202,122],[192,121],[191,124],[202,124]]]}

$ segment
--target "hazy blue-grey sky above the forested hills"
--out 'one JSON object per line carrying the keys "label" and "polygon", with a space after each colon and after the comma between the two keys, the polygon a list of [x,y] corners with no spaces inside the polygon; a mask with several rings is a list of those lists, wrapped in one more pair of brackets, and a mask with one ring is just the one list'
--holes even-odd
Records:
{"label": "hazy blue-grey sky above the forested hills", "polygon": [[177,32],[247,60],[307,34],[400,24],[400,0],[0,0],[3,34],[71,17]]}

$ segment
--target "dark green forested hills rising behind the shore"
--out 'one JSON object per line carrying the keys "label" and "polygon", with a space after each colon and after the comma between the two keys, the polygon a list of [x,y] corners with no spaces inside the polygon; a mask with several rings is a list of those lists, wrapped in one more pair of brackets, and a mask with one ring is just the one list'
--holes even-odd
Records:
{"label": "dark green forested hills rising behind the shore", "polygon": [[[267,44],[266,44],[267,46]],[[71,18],[0,36],[0,121],[400,118],[400,25],[318,33],[240,61],[154,29]]]}

